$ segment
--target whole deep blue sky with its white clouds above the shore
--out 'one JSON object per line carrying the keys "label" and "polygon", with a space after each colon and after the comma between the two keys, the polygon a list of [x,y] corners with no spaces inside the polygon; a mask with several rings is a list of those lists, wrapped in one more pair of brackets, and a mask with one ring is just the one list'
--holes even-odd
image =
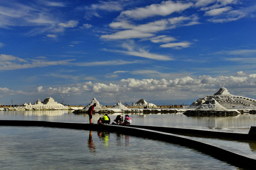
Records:
{"label": "whole deep blue sky with its white clouds above the shore", "polygon": [[0,1],[0,104],[256,98],[255,0]]}

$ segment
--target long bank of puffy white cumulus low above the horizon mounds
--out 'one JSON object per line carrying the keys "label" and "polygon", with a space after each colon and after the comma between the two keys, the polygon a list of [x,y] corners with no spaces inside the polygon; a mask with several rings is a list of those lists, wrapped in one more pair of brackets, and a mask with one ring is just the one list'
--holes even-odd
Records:
{"label": "long bank of puffy white cumulus low above the horizon mounds", "polygon": [[[38,86],[35,93],[47,95],[82,95],[95,96],[98,98],[106,98],[105,102],[116,100],[116,96],[125,96],[126,100],[130,101],[134,96],[142,98],[142,96],[156,96],[158,94],[161,100],[171,99],[191,99],[195,100],[201,96],[212,95],[216,93],[220,87],[228,88],[231,94],[235,95],[252,95],[256,88],[256,74],[246,75],[243,71],[238,71],[239,76],[209,76],[203,75],[198,77],[183,76],[174,79],[121,79],[115,82],[99,83],[84,82],[83,84],[72,84],[62,87],[47,87]],[[14,94],[33,94],[22,91],[10,90],[5,87],[0,87],[0,96]],[[89,99],[88,99],[89,100]],[[191,101],[193,102],[193,101]]]}

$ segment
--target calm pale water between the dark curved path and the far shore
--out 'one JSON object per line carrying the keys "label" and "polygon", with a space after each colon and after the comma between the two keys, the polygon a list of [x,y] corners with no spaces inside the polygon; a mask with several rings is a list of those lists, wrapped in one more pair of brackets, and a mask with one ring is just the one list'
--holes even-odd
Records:
{"label": "calm pale water between the dark curved path and the far shore", "polygon": [[[113,122],[119,114],[120,113],[109,114],[111,122]],[[102,116],[103,114],[94,114],[92,121],[96,123]],[[129,116],[132,119],[133,125],[195,128],[238,133],[248,133],[251,126],[256,126],[256,115],[251,114],[225,117],[189,117],[182,113],[130,114]],[[89,123],[87,114],[74,115],[67,110],[0,111],[0,119]]]}

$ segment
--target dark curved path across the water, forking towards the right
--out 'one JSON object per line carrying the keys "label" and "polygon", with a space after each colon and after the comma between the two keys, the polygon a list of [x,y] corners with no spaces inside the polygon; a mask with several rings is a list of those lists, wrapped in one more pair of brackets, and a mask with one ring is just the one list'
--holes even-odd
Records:
{"label": "dark curved path across the water, forking towards the right", "polygon": [[[190,148],[199,150],[200,152],[209,154],[221,161],[227,161],[230,164],[245,169],[255,169],[256,155],[243,153],[240,150],[229,148],[227,146],[203,142],[200,139],[194,139],[190,136],[181,136],[171,133],[187,133],[187,134],[207,134],[209,131],[171,128],[171,127],[150,127],[150,126],[118,126],[118,125],[96,125],[84,123],[69,123],[69,122],[47,122],[47,121],[24,121],[24,120],[0,120],[0,126],[39,126],[39,127],[57,127],[57,128],[72,128],[83,130],[108,130],[131,136],[146,137],[155,140],[166,141],[170,143],[180,144]],[[175,132],[174,132],[175,131]],[[255,136],[248,134],[234,134],[225,132],[213,132],[215,136],[229,137],[234,136],[240,139],[255,140]],[[218,135],[219,134],[219,135]]]}

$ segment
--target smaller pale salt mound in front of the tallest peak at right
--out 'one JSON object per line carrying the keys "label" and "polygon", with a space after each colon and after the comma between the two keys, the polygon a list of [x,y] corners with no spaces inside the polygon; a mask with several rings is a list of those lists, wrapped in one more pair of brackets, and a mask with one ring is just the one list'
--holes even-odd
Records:
{"label": "smaller pale salt mound in front of the tallest peak at right", "polygon": [[223,107],[214,99],[210,99],[202,103],[196,110],[218,110],[218,111],[225,111],[228,110],[227,108]]}

